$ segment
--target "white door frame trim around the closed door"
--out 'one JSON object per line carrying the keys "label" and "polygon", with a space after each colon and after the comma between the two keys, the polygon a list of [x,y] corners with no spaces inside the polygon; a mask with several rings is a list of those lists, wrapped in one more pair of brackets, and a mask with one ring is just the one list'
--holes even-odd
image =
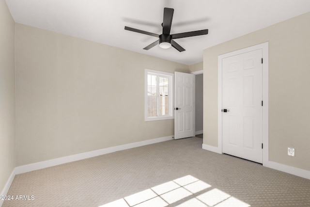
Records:
{"label": "white door frame trim around the closed door", "polygon": [[257,49],[262,49],[263,51],[263,165],[269,161],[269,107],[268,107],[268,42],[251,46],[248,48],[239,49],[226,54],[218,56],[218,107],[217,107],[217,140],[218,140],[218,152],[223,153],[222,146],[222,59],[231,57],[234,55],[239,55],[242,53],[250,52]]}

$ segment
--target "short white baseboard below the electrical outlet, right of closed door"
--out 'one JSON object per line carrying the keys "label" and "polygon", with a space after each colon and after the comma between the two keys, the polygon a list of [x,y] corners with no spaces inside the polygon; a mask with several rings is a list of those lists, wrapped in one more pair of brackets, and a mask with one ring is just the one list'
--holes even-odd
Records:
{"label": "short white baseboard below the electrical outlet, right of closed door", "polygon": [[275,170],[282,171],[284,173],[296,175],[299,177],[310,179],[310,171],[303,170],[300,168],[284,165],[278,162],[268,161],[267,163],[263,163],[263,166],[269,167]]}

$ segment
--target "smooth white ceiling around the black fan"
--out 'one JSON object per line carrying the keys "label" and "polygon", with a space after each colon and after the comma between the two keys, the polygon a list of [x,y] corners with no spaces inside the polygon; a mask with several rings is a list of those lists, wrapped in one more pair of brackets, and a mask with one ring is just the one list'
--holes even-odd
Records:
{"label": "smooth white ceiling around the black fan", "polygon": [[[202,62],[202,50],[310,11],[310,0],[6,0],[17,23],[59,32],[182,64]],[[176,39],[186,49],[142,48],[162,33],[164,7],[174,9],[171,34],[209,29]],[[287,32],[290,31],[288,28]]]}

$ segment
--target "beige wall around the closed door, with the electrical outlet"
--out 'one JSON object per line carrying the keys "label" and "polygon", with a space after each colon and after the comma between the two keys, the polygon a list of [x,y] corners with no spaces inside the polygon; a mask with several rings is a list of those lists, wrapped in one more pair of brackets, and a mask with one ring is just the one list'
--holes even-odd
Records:
{"label": "beige wall around the closed door, with the electrical outlet", "polygon": [[217,146],[217,56],[269,42],[269,160],[310,170],[309,23],[306,13],[204,50],[203,143]]}

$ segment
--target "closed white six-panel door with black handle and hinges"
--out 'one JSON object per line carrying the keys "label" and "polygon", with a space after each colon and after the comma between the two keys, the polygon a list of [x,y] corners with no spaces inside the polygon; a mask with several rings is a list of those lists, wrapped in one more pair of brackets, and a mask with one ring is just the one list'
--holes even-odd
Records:
{"label": "closed white six-panel door with black handle and hinges", "polygon": [[223,153],[263,163],[262,49],[222,59]]}

